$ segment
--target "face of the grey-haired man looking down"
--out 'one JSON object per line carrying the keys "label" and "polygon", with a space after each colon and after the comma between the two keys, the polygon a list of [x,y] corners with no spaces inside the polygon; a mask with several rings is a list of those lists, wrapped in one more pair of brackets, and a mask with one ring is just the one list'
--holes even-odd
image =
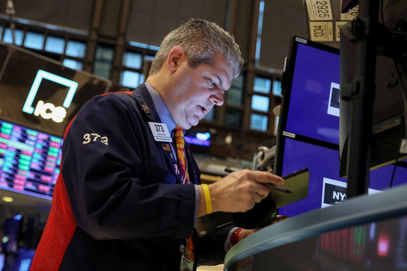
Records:
{"label": "face of the grey-haired man looking down", "polygon": [[215,54],[213,65],[196,68],[188,66],[183,57],[165,101],[174,121],[184,129],[197,125],[214,105],[223,104],[223,93],[232,78],[232,69],[220,53]]}

